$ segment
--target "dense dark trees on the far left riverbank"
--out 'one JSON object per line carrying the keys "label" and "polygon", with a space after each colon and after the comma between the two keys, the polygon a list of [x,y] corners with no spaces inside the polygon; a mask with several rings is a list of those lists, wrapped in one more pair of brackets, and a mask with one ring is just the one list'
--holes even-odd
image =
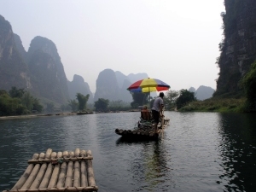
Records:
{"label": "dense dark trees on the far left riverbank", "polygon": [[40,113],[43,108],[38,98],[34,98],[24,89],[12,87],[9,93],[6,90],[0,91],[1,116]]}

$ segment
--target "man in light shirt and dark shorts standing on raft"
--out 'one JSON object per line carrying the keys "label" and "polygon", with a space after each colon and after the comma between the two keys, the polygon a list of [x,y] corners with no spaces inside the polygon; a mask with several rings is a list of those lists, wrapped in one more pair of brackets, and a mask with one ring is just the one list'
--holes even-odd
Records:
{"label": "man in light shirt and dark shorts standing on raft", "polygon": [[153,118],[154,118],[154,131],[156,132],[157,131],[157,125],[159,123],[159,119],[160,117],[164,117],[164,114],[163,114],[163,108],[164,108],[164,93],[163,92],[160,92],[159,94],[159,97],[157,97],[155,100],[154,100],[154,104],[153,104],[153,108],[152,109],[152,115],[153,115]]}

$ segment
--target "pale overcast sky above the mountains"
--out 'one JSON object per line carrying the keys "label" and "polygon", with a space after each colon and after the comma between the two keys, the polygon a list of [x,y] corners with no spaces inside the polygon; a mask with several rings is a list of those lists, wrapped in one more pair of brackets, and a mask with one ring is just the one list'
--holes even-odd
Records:
{"label": "pale overcast sky above the mountains", "polygon": [[224,0],[0,1],[26,51],[32,38],[49,38],[67,79],[82,76],[92,92],[106,68],[148,73],[172,90],[216,89],[223,11]]}

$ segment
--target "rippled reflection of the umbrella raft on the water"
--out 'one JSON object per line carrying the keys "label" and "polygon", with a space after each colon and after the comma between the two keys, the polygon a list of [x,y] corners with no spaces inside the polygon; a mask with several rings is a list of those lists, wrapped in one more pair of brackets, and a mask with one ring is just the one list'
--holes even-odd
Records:
{"label": "rippled reflection of the umbrella raft on the water", "polygon": [[[171,162],[171,155],[166,153],[166,147],[162,139],[155,141],[141,141],[139,139],[129,139],[119,137],[116,141],[117,146],[121,145],[139,145],[142,147],[137,151],[137,157],[130,160],[131,174],[134,180],[140,181],[136,191],[162,191],[168,187],[161,187],[166,182],[170,182],[170,178],[166,179],[166,172],[170,172],[167,161]],[[168,158],[166,159],[166,157]]]}

